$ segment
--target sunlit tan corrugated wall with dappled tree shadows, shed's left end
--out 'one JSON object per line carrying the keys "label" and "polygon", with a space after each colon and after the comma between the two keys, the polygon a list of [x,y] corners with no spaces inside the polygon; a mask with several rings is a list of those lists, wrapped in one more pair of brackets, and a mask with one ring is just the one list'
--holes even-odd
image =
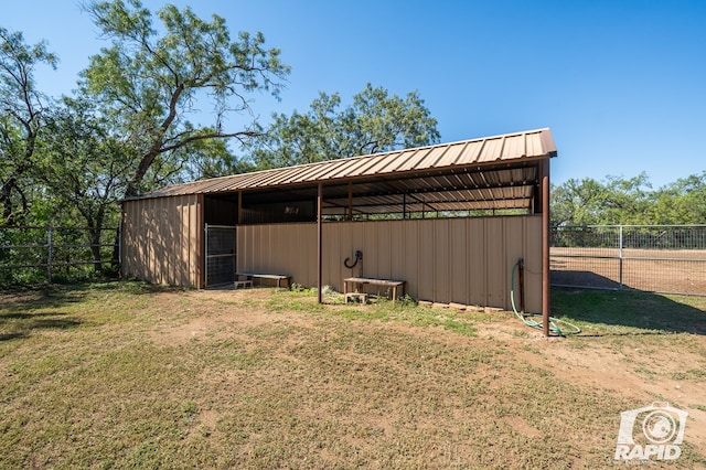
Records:
{"label": "sunlit tan corrugated wall with dappled tree shadows, shed's left end", "polygon": [[122,203],[122,274],[156,284],[201,287],[200,196]]}

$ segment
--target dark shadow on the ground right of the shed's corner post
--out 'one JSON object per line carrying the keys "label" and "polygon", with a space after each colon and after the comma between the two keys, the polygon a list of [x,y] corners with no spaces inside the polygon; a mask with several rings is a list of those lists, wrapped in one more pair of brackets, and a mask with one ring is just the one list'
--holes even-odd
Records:
{"label": "dark shadow on the ground right of the shed's corner post", "polygon": [[596,327],[595,334],[586,331],[582,335],[706,334],[706,299],[698,297],[553,288],[552,310],[554,317]]}

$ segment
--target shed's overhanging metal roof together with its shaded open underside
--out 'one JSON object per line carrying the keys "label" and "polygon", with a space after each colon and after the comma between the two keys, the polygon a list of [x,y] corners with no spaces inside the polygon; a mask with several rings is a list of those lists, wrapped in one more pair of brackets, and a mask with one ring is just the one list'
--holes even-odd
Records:
{"label": "shed's overhanging metal roof together with its shaded open underside", "polygon": [[237,201],[245,211],[279,206],[280,222],[289,222],[300,211],[315,220],[321,184],[323,216],[541,212],[542,164],[556,154],[545,128],[215,178],[141,197],[197,193],[214,201]]}

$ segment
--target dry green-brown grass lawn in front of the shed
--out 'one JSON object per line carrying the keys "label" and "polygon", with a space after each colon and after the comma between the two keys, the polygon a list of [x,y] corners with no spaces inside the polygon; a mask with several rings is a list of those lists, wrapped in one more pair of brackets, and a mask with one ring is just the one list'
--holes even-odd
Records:
{"label": "dry green-brown grass lawn in front of the shed", "polygon": [[[620,412],[654,399],[692,416],[677,466],[706,464],[706,341],[687,327],[569,312],[592,335],[545,340],[506,312],[132,282],[0,302],[3,468],[600,468]],[[625,359],[644,386],[603,382]]]}

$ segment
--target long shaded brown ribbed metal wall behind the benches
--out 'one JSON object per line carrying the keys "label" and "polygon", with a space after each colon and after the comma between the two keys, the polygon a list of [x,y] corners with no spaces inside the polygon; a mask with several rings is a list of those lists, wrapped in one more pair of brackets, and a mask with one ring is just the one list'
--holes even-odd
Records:
{"label": "long shaded brown ribbed metal wall behind the benches", "polygon": [[[237,228],[238,270],[287,274],[317,285],[317,225]],[[343,260],[363,252],[360,266]],[[345,277],[404,279],[408,293],[434,302],[511,309],[510,274],[525,260],[527,310],[542,311],[542,217],[472,217],[341,222],[323,225],[323,284]],[[518,301],[518,297],[516,298]]]}

